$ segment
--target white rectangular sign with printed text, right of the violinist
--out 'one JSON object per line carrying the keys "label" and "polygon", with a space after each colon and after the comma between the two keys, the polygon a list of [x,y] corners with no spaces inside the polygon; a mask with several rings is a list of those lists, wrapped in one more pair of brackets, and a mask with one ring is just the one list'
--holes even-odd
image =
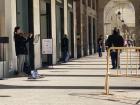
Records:
{"label": "white rectangular sign with printed text, right of the violinist", "polygon": [[42,54],[52,54],[52,39],[42,39]]}

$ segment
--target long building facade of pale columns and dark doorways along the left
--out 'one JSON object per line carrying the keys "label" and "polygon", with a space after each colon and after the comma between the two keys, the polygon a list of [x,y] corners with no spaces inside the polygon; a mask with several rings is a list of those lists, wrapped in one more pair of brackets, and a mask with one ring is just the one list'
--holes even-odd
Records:
{"label": "long building facade of pale columns and dark doorways along the left", "polygon": [[[28,43],[28,61],[32,69],[57,64],[62,58],[61,41],[69,38],[71,58],[94,54],[97,39],[96,0],[1,0],[0,37],[8,37],[3,56],[5,74],[17,68],[14,28],[20,26],[24,32],[33,33],[38,41]],[[52,54],[43,54],[43,39],[52,39]],[[46,49],[47,50],[47,49]],[[0,61],[0,62],[1,62]],[[2,63],[0,63],[2,65]],[[2,74],[2,66],[0,66]]]}

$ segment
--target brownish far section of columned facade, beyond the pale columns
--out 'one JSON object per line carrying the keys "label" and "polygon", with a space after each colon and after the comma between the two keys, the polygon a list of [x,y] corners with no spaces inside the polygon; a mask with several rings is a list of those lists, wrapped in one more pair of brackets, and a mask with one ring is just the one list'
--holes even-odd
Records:
{"label": "brownish far section of columned facade, beyond the pale columns", "polygon": [[76,0],[77,57],[96,53],[96,0]]}

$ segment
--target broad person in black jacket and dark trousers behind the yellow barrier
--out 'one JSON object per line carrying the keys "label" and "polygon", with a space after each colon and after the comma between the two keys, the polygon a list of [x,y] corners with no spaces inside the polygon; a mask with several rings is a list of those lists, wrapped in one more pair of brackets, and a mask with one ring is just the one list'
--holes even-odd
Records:
{"label": "broad person in black jacket and dark trousers behind the yellow barrier", "polygon": [[[110,35],[107,39],[107,46],[110,47],[123,47],[124,46],[124,39],[120,35],[120,30],[114,28],[113,34]],[[117,50],[111,50],[111,61],[112,61],[112,69],[120,68],[119,66],[119,53]]]}

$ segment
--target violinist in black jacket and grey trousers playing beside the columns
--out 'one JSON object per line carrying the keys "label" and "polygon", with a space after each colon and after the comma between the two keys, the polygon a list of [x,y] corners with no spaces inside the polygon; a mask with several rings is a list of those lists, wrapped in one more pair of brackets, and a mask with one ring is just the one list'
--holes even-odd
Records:
{"label": "violinist in black jacket and grey trousers playing beside the columns", "polygon": [[25,57],[28,54],[26,43],[30,40],[32,34],[23,34],[20,27],[15,27],[14,30],[14,40],[15,40],[15,50],[17,56],[17,74],[23,74],[23,68],[25,63]]}

